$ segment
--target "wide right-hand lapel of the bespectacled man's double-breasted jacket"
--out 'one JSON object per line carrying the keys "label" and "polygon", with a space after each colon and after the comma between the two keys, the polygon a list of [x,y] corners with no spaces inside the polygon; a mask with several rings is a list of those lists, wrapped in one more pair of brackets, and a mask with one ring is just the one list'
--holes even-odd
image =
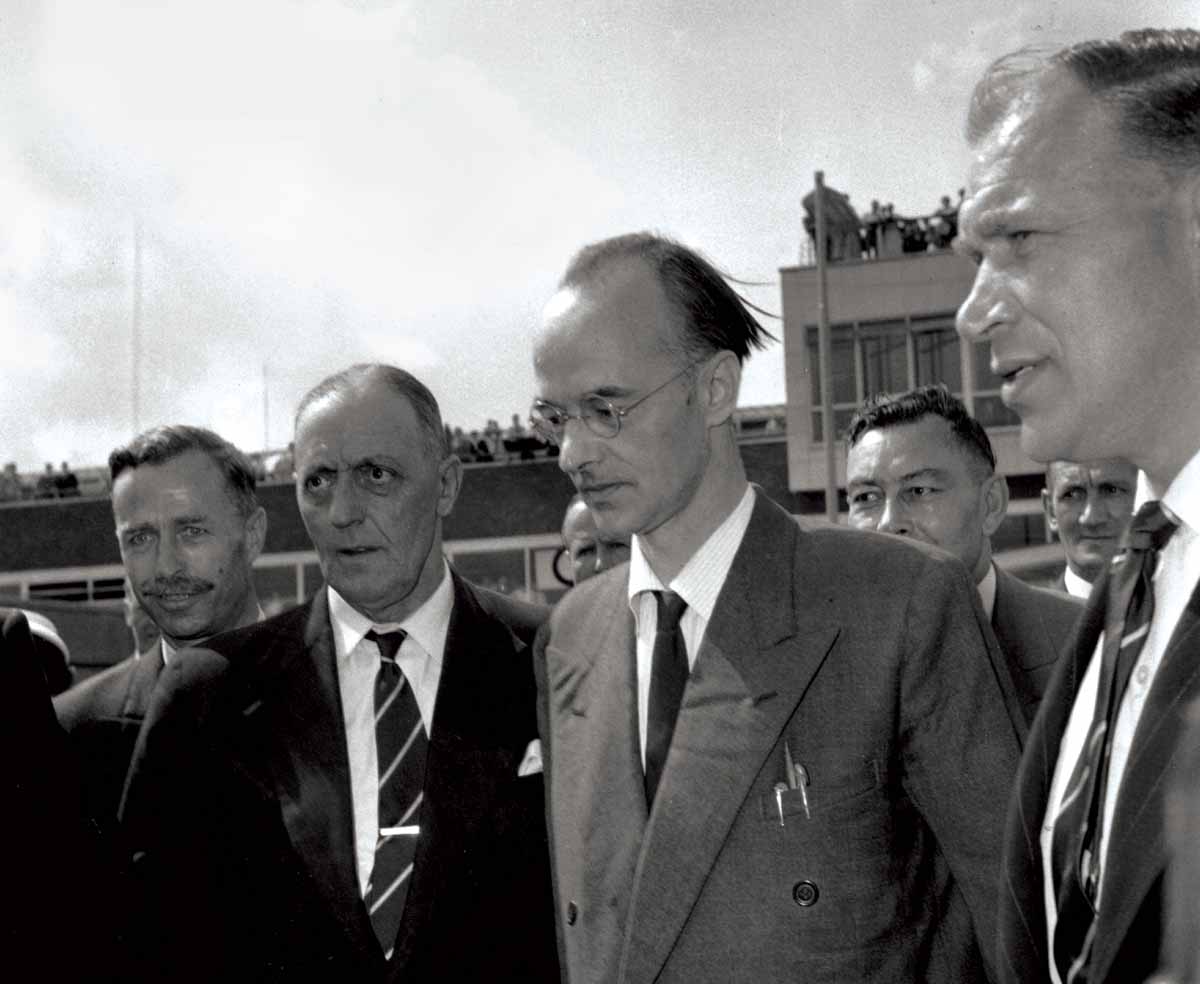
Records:
{"label": "wide right-hand lapel of the bespectacled man's double-breasted jacket", "polygon": [[[655,978],[750,787],[838,636],[796,578],[799,528],[760,493],[704,632],[630,902],[622,980]],[[626,691],[628,692],[628,691]],[[635,691],[636,692],[636,691]],[[628,697],[626,697],[628,703]]]}

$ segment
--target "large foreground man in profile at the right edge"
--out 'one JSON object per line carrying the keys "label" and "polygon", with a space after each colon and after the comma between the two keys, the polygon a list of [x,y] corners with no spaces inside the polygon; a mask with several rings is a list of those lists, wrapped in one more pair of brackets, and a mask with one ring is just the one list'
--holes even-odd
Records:
{"label": "large foreground man in profile at the right edge", "polygon": [[[959,331],[1037,461],[1126,458],[1147,504],[1034,724],[1000,895],[1007,982],[1146,979],[1164,790],[1200,695],[1200,32],[1001,59],[976,86]],[[1103,634],[1103,640],[1102,640]]]}

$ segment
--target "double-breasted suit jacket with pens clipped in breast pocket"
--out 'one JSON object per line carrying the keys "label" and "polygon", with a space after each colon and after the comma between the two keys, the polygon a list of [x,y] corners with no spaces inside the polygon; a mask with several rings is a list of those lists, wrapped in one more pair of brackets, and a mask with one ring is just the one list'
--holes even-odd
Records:
{"label": "double-breasted suit jacket with pens clipped in breast pocket", "polygon": [[628,576],[535,652],[572,984],[984,979],[1024,721],[961,564],[760,492],[649,816]]}

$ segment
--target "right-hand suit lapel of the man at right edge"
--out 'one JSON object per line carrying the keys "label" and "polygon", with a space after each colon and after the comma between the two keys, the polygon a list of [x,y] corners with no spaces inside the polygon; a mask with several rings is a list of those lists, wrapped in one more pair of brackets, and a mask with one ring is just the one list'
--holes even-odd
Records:
{"label": "right-hand suit lapel of the man at right edge", "polygon": [[1103,979],[1146,893],[1166,864],[1166,782],[1180,751],[1183,712],[1200,694],[1200,587],[1180,617],[1146,696],[1134,732],[1121,794],[1112,816],[1111,845],[1138,845],[1136,851],[1112,851],[1105,857],[1106,886],[1120,887],[1102,896],[1103,932],[1097,934],[1093,973]]}

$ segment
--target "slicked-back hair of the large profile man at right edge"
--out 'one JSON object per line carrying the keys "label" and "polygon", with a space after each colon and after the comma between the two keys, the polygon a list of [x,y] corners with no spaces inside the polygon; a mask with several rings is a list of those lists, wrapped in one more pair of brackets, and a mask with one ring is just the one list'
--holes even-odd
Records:
{"label": "slicked-back hair of the large profile man at right edge", "polygon": [[1126,31],[1057,52],[1022,48],[1004,55],[974,88],[967,140],[977,143],[1055,70],[1110,108],[1129,157],[1170,172],[1200,169],[1200,31]]}

